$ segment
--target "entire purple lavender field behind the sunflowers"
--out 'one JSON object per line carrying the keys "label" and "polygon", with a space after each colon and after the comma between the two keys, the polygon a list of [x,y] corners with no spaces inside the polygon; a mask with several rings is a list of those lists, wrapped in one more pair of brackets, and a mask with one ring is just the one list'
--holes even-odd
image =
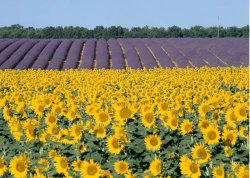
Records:
{"label": "entire purple lavender field behind the sunflowers", "polygon": [[246,38],[0,39],[0,69],[248,66]]}

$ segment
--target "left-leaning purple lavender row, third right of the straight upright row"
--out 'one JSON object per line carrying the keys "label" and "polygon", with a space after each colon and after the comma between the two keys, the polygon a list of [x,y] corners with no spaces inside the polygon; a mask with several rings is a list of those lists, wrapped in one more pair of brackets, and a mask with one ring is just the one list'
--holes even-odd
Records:
{"label": "left-leaning purple lavender row, third right of the straight upright row", "polygon": [[141,39],[129,39],[131,43],[134,45],[134,48],[137,50],[140,59],[144,66],[148,69],[153,69],[157,67],[157,63],[150,53],[150,51],[146,48],[143,41]]}

